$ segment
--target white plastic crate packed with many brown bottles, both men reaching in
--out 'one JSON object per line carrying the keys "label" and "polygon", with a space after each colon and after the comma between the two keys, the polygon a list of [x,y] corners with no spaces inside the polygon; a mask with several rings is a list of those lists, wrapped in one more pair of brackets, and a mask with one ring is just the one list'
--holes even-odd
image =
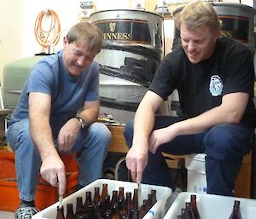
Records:
{"label": "white plastic crate packed with many brown bottles, both men reaching in", "polygon": [[[133,189],[137,188],[137,183],[134,182],[122,182],[122,181],[113,181],[107,179],[99,179],[95,182],[91,182],[88,186],[80,189],[78,192],[73,193],[63,199],[64,206],[64,214],[67,214],[67,204],[73,204],[73,210],[76,209],[76,198],[78,196],[83,197],[83,202],[85,200],[85,192],[91,191],[92,196],[94,195],[94,188],[100,187],[100,193],[102,193],[102,184],[108,183],[108,193],[111,196],[113,190],[119,190],[119,187],[125,188],[125,193],[131,192],[133,193]],[[143,219],[162,219],[165,216],[166,211],[170,207],[170,197],[172,193],[172,189],[169,187],[159,187],[153,185],[142,184],[142,198],[148,199],[148,193],[151,193],[151,189],[156,190],[156,199],[157,202],[154,206],[148,211],[148,213],[143,217]],[[32,219],[55,219],[57,213],[57,206],[59,203],[55,203],[54,205],[50,205],[48,208],[41,210],[38,214],[32,216]]]}

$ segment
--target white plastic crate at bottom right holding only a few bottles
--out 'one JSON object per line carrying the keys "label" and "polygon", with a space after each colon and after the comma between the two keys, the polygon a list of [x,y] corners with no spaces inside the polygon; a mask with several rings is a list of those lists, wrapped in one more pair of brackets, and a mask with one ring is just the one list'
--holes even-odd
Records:
{"label": "white plastic crate at bottom right holding only a few bottles", "polygon": [[240,200],[241,218],[253,219],[256,214],[256,200],[214,195],[207,193],[179,193],[163,219],[177,219],[190,195],[196,195],[196,203],[201,219],[229,219],[233,210],[234,200]]}

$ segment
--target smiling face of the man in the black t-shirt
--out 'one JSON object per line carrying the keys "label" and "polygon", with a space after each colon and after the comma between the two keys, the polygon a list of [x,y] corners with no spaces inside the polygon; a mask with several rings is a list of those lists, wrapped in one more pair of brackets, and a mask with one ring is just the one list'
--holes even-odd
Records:
{"label": "smiling face of the man in the black t-shirt", "polygon": [[215,48],[218,31],[211,32],[208,27],[200,27],[195,31],[188,30],[187,26],[180,26],[180,37],[186,55],[194,64],[208,59]]}

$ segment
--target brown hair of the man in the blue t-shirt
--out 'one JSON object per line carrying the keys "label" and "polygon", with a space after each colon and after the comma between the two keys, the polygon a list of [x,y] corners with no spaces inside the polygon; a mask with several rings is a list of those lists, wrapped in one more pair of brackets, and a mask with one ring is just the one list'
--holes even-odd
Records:
{"label": "brown hair of the man in the blue t-shirt", "polygon": [[89,22],[79,22],[67,32],[67,42],[77,43],[79,41],[86,41],[89,49],[98,54],[102,49],[102,32]]}

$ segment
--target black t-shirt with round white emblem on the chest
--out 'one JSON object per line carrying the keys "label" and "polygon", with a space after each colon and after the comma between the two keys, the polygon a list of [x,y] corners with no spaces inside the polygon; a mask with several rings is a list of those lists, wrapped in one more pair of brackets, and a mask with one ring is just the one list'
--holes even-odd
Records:
{"label": "black t-shirt with round white emblem on the chest", "polygon": [[166,100],[177,89],[183,118],[192,118],[218,107],[222,97],[235,92],[250,95],[241,123],[255,127],[253,104],[253,55],[245,44],[231,38],[218,38],[212,56],[193,64],[182,46],[161,62],[149,90]]}

